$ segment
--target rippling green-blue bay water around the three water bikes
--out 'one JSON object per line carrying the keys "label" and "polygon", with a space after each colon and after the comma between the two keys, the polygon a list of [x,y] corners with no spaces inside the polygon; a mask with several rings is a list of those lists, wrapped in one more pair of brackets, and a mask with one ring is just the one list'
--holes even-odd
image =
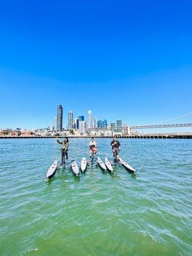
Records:
{"label": "rippling green-blue bay water around the three water bikes", "polygon": [[[69,158],[88,157],[88,142],[71,139]],[[109,143],[97,140],[102,159]],[[0,140],[0,255],[191,255],[192,140],[120,143],[136,175],[93,165],[46,182],[56,140]]]}

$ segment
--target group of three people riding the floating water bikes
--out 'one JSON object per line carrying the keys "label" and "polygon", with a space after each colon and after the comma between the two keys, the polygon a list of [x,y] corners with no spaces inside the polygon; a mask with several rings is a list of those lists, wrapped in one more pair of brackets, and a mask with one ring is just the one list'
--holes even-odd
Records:
{"label": "group of three people riding the floating water bikes", "polygon": [[[61,147],[61,165],[65,164],[65,159],[68,159],[68,138],[65,138],[65,140],[62,142],[60,140],[57,140],[58,143],[62,145]],[[115,137],[113,137],[113,141],[111,141],[111,146],[112,146],[112,152],[113,152],[113,157],[115,159],[118,157],[119,151],[120,151],[120,142],[116,140]],[[97,152],[97,143],[95,142],[94,138],[91,138],[90,144],[90,159],[93,159]]]}

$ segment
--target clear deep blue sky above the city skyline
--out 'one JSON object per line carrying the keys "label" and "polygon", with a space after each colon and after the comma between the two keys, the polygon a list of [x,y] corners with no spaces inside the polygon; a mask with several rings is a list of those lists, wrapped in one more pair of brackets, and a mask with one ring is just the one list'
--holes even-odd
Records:
{"label": "clear deep blue sky above the city skyline", "polygon": [[192,1],[1,1],[0,127],[192,112]]}

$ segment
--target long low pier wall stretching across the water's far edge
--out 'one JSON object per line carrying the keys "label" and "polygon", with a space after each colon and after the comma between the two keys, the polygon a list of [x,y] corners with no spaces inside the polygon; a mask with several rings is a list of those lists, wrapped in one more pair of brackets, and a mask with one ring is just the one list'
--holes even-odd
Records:
{"label": "long low pier wall stretching across the water's far edge", "polygon": [[[78,139],[84,139],[84,138],[113,138],[113,136],[0,136],[0,139],[54,139],[54,138],[78,138]],[[122,138],[122,139],[192,139],[192,133],[191,134],[151,134],[151,135],[124,135],[124,136],[115,136],[116,138]]]}

